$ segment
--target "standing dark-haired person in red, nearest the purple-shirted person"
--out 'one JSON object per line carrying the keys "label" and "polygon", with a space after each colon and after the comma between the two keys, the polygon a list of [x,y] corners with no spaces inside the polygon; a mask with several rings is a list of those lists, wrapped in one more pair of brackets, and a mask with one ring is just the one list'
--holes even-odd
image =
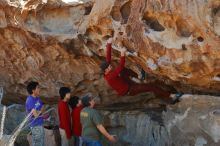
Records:
{"label": "standing dark-haired person in red, nearest the purple-shirted person", "polygon": [[70,89],[67,87],[61,87],[59,93],[61,99],[58,103],[58,115],[60,121],[59,130],[61,141],[62,146],[69,146],[72,137],[70,110],[68,107],[68,101],[70,99]]}

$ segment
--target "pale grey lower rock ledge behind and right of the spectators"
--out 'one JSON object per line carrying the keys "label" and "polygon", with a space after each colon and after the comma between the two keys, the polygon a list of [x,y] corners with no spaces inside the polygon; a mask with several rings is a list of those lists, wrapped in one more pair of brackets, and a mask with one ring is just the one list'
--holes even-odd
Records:
{"label": "pale grey lower rock ledge behind and right of the spectators", "polygon": [[[104,138],[102,142],[104,146],[218,146],[219,104],[219,97],[184,95],[181,102],[164,109],[100,110],[105,127],[118,137],[116,144]],[[24,111],[23,106],[14,106],[8,110],[6,121],[10,122],[5,123],[5,129],[9,131],[4,134],[11,134],[24,118]],[[51,117],[54,117],[52,113]],[[16,143],[26,146],[27,134],[22,131]]]}

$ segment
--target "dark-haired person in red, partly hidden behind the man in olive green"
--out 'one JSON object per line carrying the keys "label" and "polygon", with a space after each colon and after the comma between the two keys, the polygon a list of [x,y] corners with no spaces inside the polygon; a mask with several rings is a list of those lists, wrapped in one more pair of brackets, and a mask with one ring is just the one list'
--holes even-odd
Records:
{"label": "dark-haired person in red, partly hidden behind the man in olive green", "polygon": [[80,123],[80,112],[83,109],[81,99],[78,96],[72,96],[69,100],[69,105],[72,108],[72,133],[74,136],[74,146],[81,146],[82,125]]}

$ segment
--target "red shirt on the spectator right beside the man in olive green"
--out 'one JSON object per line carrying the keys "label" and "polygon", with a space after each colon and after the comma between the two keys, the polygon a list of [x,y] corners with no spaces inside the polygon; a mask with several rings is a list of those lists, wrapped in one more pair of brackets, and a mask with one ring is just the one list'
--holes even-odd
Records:
{"label": "red shirt on the spectator right beside the man in olive green", "polygon": [[75,107],[73,108],[71,113],[73,135],[78,137],[81,136],[82,133],[82,125],[80,123],[80,112],[82,109],[83,109],[82,106]]}

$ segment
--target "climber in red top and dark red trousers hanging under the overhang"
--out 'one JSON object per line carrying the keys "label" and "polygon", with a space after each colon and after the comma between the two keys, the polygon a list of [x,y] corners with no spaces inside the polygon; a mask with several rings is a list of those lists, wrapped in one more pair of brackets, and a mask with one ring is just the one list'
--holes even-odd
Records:
{"label": "climber in red top and dark red trousers hanging under the overhang", "polygon": [[107,41],[106,60],[101,63],[100,68],[107,83],[119,96],[135,96],[139,93],[153,92],[156,97],[163,99],[166,103],[175,104],[183,95],[182,93],[171,95],[171,92],[165,91],[153,83],[134,82],[134,79],[138,80],[138,75],[131,69],[124,67],[126,48],[121,49],[120,64],[113,70],[111,66],[111,50],[112,38]]}

